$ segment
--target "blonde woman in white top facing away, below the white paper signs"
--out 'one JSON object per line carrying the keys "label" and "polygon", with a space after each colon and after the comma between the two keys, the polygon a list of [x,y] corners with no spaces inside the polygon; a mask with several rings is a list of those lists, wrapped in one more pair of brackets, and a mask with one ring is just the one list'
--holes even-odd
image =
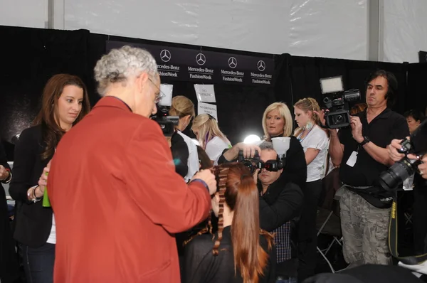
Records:
{"label": "blonde woman in white top facing away, below the white paper signs", "polygon": [[201,148],[208,154],[209,159],[214,165],[218,165],[219,157],[224,149],[231,147],[231,144],[219,129],[216,119],[209,114],[197,115],[191,129],[199,140]]}

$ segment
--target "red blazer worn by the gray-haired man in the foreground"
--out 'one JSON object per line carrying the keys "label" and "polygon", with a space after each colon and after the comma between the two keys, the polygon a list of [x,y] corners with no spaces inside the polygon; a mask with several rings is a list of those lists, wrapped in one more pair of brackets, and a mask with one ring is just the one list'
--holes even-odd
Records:
{"label": "red blazer worn by the gray-haired man in the foreground", "polygon": [[54,282],[180,282],[174,233],[206,219],[208,190],[175,173],[159,125],[104,97],[65,134],[48,196]]}

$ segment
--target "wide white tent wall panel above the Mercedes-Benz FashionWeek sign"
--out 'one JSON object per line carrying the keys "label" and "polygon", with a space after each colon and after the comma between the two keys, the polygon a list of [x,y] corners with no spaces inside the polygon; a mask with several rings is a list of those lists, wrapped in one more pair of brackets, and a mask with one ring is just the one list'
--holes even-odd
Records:
{"label": "wide white tent wall panel above the Mercedes-Benz FashionWeek sign", "polygon": [[278,0],[65,0],[65,29],[281,53],[289,9]]}

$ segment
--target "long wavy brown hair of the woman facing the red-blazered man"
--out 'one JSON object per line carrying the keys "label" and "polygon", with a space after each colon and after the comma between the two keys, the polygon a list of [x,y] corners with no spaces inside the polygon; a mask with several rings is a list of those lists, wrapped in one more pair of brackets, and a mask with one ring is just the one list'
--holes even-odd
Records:
{"label": "long wavy brown hair of the woman facing the red-blazered man", "polygon": [[58,124],[58,99],[62,94],[64,87],[67,85],[75,85],[83,89],[83,103],[82,110],[75,119],[73,126],[77,124],[86,114],[90,111],[90,102],[88,90],[86,89],[83,80],[75,75],[58,74],[53,75],[48,80],[41,98],[41,110],[38,112],[36,119],[33,121],[33,125],[41,125],[43,142],[45,149],[41,154],[41,159],[46,160],[53,156],[55,153],[55,147],[60,141],[60,138],[65,134],[64,130],[61,129]]}

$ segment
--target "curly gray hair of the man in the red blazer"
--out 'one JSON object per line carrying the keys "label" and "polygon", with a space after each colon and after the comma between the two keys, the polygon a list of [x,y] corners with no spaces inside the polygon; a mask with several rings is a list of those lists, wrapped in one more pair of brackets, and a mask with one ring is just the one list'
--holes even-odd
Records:
{"label": "curly gray hair of the man in the red blazer", "polygon": [[127,78],[142,72],[157,74],[157,63],[147,50],[123,46],[103,55],[97,61],[94,71],[97,90],[100,95],[105,95],[111,82],[122,82],[126,85]]}

